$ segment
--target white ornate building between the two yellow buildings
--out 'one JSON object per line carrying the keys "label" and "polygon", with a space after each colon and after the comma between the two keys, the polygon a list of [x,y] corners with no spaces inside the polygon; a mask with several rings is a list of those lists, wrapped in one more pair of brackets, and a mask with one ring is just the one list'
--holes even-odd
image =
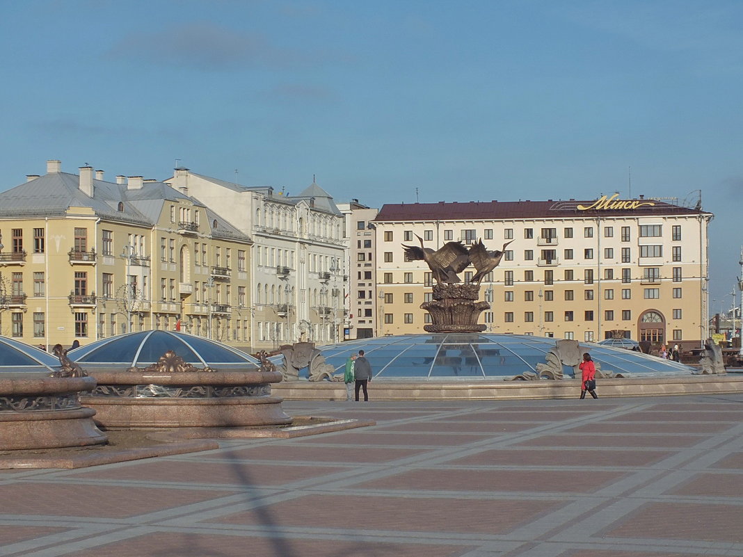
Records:
{"label": "white ornate building between the two yellow buildings", "polygon": [[175,169],[165,180],[224,215],[253,240],[250,270],[254,349],[297,341],[340,342],[344,333],[344,217],[313,182],[299,195]]}

